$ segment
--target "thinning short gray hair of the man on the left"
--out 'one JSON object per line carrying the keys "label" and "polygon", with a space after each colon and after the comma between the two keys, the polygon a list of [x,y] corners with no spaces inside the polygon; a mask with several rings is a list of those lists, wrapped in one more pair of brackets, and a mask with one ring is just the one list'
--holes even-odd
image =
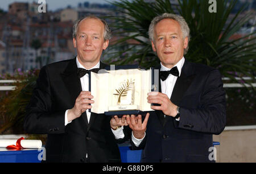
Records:
{"label": "thinning short gray hair of the man on the left", "polygon": [[97,16],[94,16],[94,15],[89,15],[89,16],[85,16],[84,18],[81,18],[79,20],[77,20],[75,22],[75,24],[73,25],[73,38],[76,38],[76,35],[77,35],[77,28],[79,26],[79,23],[84,20],[84,19],[98,19],[98,20],[101,20],[101,22],[104,24],[105,26],[105,30],[104,30],[104,41],[106,40],[110,40],[111,39],[111,31],[110,31],[110,28],[109,28],[109,25],[108,23],[104,20],[104,19],[100,19],[98,18]]}

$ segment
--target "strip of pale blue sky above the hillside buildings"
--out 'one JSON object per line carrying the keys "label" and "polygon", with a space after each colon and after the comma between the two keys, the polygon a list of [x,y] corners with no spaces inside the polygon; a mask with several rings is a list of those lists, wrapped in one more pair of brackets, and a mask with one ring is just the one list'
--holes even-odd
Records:
{"label": "strip of pale blue sky above the hillside buildings", "polygon": [[[38,0],[1,0],[0,1],[0,9],[3,9],[5,11],[8,10],[8,6],[10,3],[13,2],[38,2]],[[106,1],[113,2],[114,0],[45,0],[48,5],[48,10],[56,10],[59,8],[65,8],[68,5],[77,7],[77,4],[79,2],[85,2],[88,1],[90,3],[107,3]]]}

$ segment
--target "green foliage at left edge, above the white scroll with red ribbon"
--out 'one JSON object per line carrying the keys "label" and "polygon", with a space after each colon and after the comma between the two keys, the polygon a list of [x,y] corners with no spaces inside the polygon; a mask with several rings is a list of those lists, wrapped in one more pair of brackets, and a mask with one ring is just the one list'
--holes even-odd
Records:
{"label": "green foliage at left edge, above the white scroll with red ribbon", "polygon": [[6,94],[0,98],[0,118],[2,119],[0,133],[14,125],[16,125],[15,129],[19,127],[18,130],[22,130],[25,109],[30,101],[32,89],[34,89],[38,74],[39,69],[32,69],[26,73],[18,69],[15,71],[14,75],[5,74],[4,77],[1,77],[4,80],[12,79],[17,81],[11,84],[16,86],[15,90],[6,92]]}

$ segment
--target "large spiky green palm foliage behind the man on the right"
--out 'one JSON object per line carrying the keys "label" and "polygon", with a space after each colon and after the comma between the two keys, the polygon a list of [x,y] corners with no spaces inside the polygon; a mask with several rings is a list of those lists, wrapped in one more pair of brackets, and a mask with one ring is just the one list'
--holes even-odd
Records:
{"label": "large spiky green palm foliage behind the man on the right", "polygon": [[[241,6],[238,13],[230,15],[237,0],[218,0],[217,13],[209,13],[209,3],[205,0],[178,0],[174,6],[168,0],[146,3],[143,0],[113,2],[123,15],[108,16],[114,20],[110,26],[118,39],[110,46],[109,64],[134,64],[149,68],[159,63],[148,40],[151,20],[163,13],[180,14],[191,29],[191,42],[185,58],[196,63],[218,68],[223,76],[253,77],[256,70],[255,32],[238,39],[230,39],[250,20],[250,13],[238,16],[246,9]],[[234,73],[236,72],[236,73]]]}

